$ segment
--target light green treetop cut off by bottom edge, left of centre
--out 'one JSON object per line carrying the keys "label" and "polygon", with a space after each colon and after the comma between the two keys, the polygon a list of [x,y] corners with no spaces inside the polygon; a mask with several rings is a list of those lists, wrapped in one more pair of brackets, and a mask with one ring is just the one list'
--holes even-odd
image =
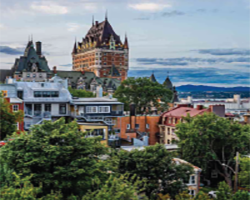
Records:
{"label": "light green treetop cut off by bottom edge, left of centre", "polygon": [[110,176],[100,190],[85,195],[82,200],[138,200],[147,199],[140,194],[143,191],[143,182],[133,176],[134,183],[128,180],[128,176],[121,175],[119,178]]}

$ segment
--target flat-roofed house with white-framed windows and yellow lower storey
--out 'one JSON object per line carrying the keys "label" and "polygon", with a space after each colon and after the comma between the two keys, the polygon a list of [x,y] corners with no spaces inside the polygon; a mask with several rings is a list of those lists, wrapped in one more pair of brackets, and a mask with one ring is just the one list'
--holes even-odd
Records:
{"label": "flat-roofed house with white-framed windows and yellow lower storey", "polygon": [[71,117],[77,119],[80,129],[88,132],[89,137],[102,136],[103,143],[107,143],[109,134],[116,136],[116,140],[120,137],[117,118],[123,116],[123,106],[111,95],[102,97],[101,90],[96,98],[73,98]]}

